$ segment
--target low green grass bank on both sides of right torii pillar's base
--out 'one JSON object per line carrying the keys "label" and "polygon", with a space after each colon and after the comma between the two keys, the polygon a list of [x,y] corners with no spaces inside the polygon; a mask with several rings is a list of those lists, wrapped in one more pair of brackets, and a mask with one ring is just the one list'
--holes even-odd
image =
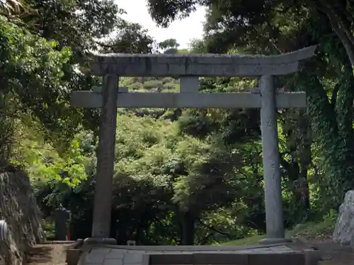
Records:
{"label": "low green grass bank on both sides of right torii pillar's base", "polygon": [[[332,235],[335,224],[335,218],[325,218],[321,222],[307,222],[296,225],[292,230],[287,230],[285,234],[286,237],[298,238],[299,240],[329,238]],[[223,242],[220,245],[258,245],[259,240],[262,240],[263,238],[265,238],[265,235],[253,235],[251,237],[244,237],[240,240]]]}

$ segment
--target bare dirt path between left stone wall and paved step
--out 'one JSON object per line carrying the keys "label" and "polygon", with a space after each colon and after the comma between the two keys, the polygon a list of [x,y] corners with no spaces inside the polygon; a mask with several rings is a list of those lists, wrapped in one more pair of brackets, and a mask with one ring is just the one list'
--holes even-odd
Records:
{"label": "bare dirt path between left stone wall and paved step", "polygon": [[65,265],[67,244],[40,244],[30,251],[28,265]]}

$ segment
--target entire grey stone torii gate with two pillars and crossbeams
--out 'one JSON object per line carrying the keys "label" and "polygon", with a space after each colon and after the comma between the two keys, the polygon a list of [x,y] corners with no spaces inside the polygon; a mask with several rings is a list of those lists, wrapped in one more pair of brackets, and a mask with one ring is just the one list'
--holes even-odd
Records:
{"label": "entire grey stone torii gate with two pillars and crossbeams", "polygon": [[[306,107],[305,93],[277,92],[273,76],[294,73],[299,60],[316,47],[275,56],[239,54],[99,54],[91,73],[103,76],[101,92],[73,91],[73,107],[101,107],[97,177],[91,238],[116,244],[110,237],[117,108],[260,108],[267,237],[263,243],[285,242],[278,146],[277,108]],[[180,93],[127,93],[120,76],[179,76]],[[253,93],[199,93],[200,76],[260,76]]]}

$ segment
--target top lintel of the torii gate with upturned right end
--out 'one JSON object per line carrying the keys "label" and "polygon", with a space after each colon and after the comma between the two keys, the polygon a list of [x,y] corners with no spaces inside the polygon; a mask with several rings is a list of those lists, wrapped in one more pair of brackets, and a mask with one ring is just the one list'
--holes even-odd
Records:
{"label": "top lintel of the torii gate with upturned right end", "polygon": [[96,54],[91,73],[118,76],[263,76],[297,71],[316,46],[279,55]]}

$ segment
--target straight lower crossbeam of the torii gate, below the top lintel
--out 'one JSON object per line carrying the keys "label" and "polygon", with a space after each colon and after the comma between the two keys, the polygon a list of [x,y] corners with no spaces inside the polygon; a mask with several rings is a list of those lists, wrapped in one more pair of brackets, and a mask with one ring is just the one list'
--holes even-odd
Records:
{"label": "straight lower crossbeam of the torii gate, below the top lintel", "polygon": [[[102,107],[102,95],[72,91],[72,107]],[[254,93],[122,93],[117,107],[260,108],[261,95]],[[276,107],[306,107],[306,93],[278,93]]]}

